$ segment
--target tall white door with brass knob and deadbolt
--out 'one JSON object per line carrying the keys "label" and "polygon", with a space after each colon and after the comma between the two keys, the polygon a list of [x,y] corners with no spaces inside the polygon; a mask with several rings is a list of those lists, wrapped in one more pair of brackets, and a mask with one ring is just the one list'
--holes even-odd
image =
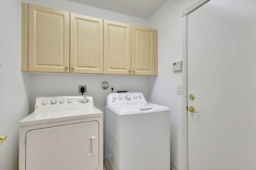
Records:
{"label": "tall white door with brass knob and deadbolt", "polygon": [[188,14],[188,169],[256,170],[256,0]]}

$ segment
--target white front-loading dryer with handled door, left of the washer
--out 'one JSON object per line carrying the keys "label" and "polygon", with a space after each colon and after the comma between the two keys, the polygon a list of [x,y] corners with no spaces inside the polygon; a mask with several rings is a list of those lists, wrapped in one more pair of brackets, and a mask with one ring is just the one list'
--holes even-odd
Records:
{"label": "white front-loading dryer with handled door, left of the washer", "polygon": [[92,96],[36,98],[20,121],[19,170],[103,170],[102,128]]}

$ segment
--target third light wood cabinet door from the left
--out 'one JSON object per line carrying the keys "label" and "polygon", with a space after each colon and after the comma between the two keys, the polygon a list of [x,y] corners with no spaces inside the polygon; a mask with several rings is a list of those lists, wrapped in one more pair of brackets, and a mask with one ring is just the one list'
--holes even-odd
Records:
{"label": "third light wood cabinet door from the left", "polygon": [[131,74],[131,25],[104,20],[104,74]]}

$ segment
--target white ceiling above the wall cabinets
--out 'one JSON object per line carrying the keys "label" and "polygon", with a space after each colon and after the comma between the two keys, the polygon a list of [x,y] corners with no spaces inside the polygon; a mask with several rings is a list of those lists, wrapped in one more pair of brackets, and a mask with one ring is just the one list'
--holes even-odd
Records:
{"label": "white ceiling above the wall cabinets", "polygon": [[167,0],[69,0],[148,20]]}

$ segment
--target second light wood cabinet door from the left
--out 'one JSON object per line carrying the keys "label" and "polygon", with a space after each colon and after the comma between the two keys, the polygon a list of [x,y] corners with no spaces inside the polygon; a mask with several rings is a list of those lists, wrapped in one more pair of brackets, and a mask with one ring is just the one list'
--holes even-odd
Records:
{"label": "second light wood cabinet door from the left", "polygon": [[70,13],[70,68],[103,74],[103,19]]}

